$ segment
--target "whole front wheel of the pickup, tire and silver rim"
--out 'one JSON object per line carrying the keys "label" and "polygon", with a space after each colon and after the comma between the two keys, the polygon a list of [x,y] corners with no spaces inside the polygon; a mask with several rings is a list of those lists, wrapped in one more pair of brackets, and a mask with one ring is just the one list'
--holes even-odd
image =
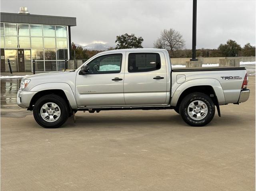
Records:
{"label": "whole front wheel of the pickup, tire and silver rim", "polygon": [[49,94],[36,101],[33,115],[36,122],[42,127],[57,128],[67,121],[69,107],[62,97]]}

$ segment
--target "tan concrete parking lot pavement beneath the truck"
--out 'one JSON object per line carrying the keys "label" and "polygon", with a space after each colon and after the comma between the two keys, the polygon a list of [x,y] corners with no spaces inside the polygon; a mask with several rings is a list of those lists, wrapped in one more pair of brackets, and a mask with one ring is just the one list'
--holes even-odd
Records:
{"label": "tan concrete parking lot pavement beneath the truck", "polygon": [[[77,113],[58,129],[1,108],[1,189],[255,190],[255,78],[250,99],[206,127],[172,110]],[[17,113],[17,114],[14,114]]]}

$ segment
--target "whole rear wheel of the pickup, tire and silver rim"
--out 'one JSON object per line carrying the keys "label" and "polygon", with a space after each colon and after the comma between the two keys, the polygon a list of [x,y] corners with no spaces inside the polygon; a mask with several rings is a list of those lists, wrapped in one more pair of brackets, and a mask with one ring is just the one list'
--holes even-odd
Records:
{"label": "whole rear wheel of the pickup, tire and silver rim", "polygon": [[207,125],[212,121],[214,114],[214,103],[206,94],[189,94],[180,103],[180,115],[191,126],[200,127]]}

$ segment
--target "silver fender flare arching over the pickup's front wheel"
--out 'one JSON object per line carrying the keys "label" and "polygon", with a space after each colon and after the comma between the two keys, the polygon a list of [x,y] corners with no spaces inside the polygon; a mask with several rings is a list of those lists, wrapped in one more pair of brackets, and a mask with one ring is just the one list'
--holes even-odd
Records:
{"label": "silver fender flare arching over the pickup's front wheel", "polygon": [[44,90],[62,90],[65,93],[66,97],[68,98],[71,108],[72,109],[77,108],[74,92],[73,92],[72,88],[69,86],[69,84],[64,83],[64,82],[44,83],[44,84],[39,84],[37,86],[34,86],[30,91],[31,92],[41,92]]}

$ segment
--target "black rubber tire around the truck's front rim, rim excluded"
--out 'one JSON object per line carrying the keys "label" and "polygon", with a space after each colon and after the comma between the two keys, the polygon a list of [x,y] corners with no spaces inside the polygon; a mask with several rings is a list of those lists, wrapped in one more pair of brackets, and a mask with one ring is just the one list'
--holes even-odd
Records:
{"label": "black rubber tire around the truck's front rim, rim excluded", "polygon": [[[40,115],[40,110],[42,105],[48,102],[53,102],[56,103],[60,107],[60,117],[57,119],[57,121],[54,122],[47,122],[45,121],[41,115]],[[36,122],[41,125],[42,127],[45,128],[57,128],[60,127],[63,123],[66,122],[68,119],[68,107],[66,101],[57,95],[46,95],[43,97],[40,97],[38,101],[36,101],[34,108],[33,108],[33,115],[36,120]]]}

